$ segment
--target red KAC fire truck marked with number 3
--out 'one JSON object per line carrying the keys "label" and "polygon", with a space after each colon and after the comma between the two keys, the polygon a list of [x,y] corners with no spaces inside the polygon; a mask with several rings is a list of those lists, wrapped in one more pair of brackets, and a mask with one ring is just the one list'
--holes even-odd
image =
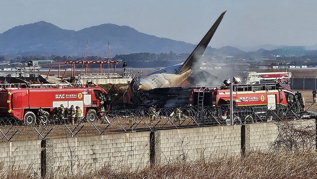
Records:
{"label": "red KAC fire truck marked with number 3", "polygon": [[[190,94],[189,104],[202,110],[209,106],[219,118],[229,117],[230,87],[224,85],[196,86]],[[233,85],[234,115],[241,120],[253,121],[260,114],[292,110],[303,111],[305,100],[301,93],[293,93],[279,84],[236,84]]]}

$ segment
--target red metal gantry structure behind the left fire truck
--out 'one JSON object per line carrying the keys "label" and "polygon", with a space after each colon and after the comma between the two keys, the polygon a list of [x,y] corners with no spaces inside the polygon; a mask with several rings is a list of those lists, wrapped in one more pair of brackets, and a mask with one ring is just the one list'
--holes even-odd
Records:
{"label": "red metal gantry structure behind the left fire truck", "polygon": [[[75,70],[76,64],[83,64],[83,61],[65,61],[65,64],[71,64],[71,68],[72,68],[72,77],[74,77],[76,75]],[[110,64],[114,64],[114,72],[116,73],[117,71],[117,65],[118,65],[118,61],[84,61],[85,64],[85,73],[88,73],[89,70],[89,64],[99,64],[99,73],[102,73],[102,64],[109,64],[108,67],[110,66]]]}

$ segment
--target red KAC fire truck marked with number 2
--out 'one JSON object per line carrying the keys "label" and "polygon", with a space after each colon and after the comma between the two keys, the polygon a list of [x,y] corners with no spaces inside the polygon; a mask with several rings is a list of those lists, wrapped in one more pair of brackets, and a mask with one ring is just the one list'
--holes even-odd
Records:
{"label": "red KAC fire truck marked with number 2", "polygon": [[[97,119],[100,110],[99,95],[107,92],[97,85],[94,87],[73,87],[71,84],[28,85],[27,88],[6,88],[0,91],[0,114],[23,120],[25,125],[35,125],[40,107],[45,111],[45,122],[53,110],[62,104],[65,111],[71,106],[79,106],[88,121]],[[24,85],[25,86],[25,85]],[[104,101],[106,104],[107,101]]]}

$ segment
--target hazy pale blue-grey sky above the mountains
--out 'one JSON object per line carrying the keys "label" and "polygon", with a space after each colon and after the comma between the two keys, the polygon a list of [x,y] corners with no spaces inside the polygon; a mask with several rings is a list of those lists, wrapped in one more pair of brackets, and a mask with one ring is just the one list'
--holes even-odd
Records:
{"label": "hazy pale blue-grey sky above the mountains", "polygon": [[212,47],[317,44],[315,0],[0,0],[0,33],[40,20],[62,29],[112,23],[197,44],[227,10]]}

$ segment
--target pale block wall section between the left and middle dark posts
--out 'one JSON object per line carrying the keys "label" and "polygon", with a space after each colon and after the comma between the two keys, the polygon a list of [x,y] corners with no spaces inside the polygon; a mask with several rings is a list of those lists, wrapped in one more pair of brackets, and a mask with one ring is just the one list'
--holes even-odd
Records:
{"label": "pale block wall section between the left and middle dark posts", "polygon": [[[92,137],[52,140],[54,170],[75,172],[87,167],[99,169],[105,163],[113,166],[138,167],[149,164],[150,132],[114,133]],[[47,146],[48,147],[48,146]],[[49,149],[49,148],[47,148]],[[47,161],[47,165],[51,165]]]}

